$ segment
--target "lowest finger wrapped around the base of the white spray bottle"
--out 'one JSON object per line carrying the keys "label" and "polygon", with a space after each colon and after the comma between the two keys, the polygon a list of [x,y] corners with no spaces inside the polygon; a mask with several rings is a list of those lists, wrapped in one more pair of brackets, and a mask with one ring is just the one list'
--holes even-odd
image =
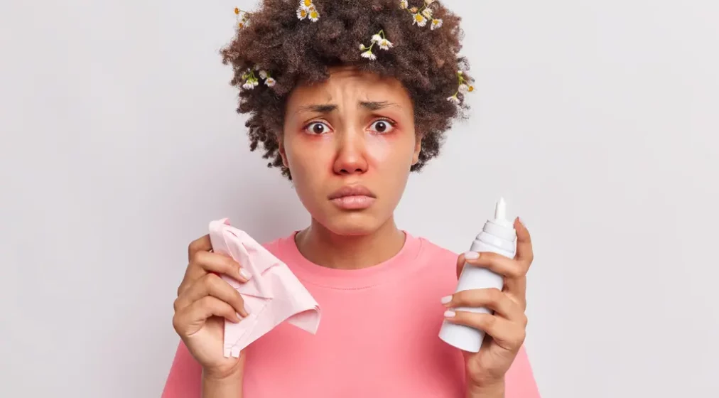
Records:
{"label": "lowest finger wrapped around the base of the white spray bottle", "polygon": [[516,351],[524,343],[526,332],[521,324],[506,320],[497,315],[483,312],[447,310],[444,317],[449,322],[474,327],[492,336],[495,343],[505,350]]}

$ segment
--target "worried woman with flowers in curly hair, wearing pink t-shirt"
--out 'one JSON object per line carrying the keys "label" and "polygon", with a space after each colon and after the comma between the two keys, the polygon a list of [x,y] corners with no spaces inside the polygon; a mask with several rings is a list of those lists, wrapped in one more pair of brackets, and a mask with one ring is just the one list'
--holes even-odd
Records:
{"label": "worried woman with flowers in curly hair, wearing pink t-shirt", "polygon": [[[417,3],[417,4],[414,4]],[[251,148],[293,181],[311,225],[265,244],[319,303],[316,335],[281,324],[239,358],[225,320],[247,316],[217,274],[242,264],[191,243],[175,300],[181,343],[163,397],[539,397],[523,351],[529,233],[516,258],[455,255],[398,229],[408,175],[439,153],[471,79],[457,55],[459,17],[436,1],[265,0],[236,10],[223,50],[242,86]],[[505,289],[452,294],[462,264]],[[490,307],[494,315],[453,311]],[[479,353],[438,338],[441,322],[485,330]]]}

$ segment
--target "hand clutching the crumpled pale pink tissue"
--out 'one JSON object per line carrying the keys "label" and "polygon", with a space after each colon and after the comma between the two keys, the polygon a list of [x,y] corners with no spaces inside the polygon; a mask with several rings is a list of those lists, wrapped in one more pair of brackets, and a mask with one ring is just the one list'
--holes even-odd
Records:
{"label": "hand clutching the crumpled pale pink tissue", "polygon": [[247,282],[247,278],[239,263],[211,250],[209,235],[190,244],[189,265],[175,299],[173,327],[205,376],[224,379],[237,373],[244,361],[244,356],[224,357],[224,319],[239,322],[247,312],[242,296],[219,274],[240,283]]}

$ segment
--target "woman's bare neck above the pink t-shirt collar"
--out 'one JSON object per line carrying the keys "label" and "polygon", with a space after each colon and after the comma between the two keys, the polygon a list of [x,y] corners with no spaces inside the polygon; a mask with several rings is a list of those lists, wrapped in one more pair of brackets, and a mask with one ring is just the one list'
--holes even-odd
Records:
{"label": "woman's bare neck above the pink t-shirt collar", "polygon": [[399,253],[405,239],[393,217],[368,235],[337,235],[313,219],[295,238],[308,261],[337,269],[376,266]]}

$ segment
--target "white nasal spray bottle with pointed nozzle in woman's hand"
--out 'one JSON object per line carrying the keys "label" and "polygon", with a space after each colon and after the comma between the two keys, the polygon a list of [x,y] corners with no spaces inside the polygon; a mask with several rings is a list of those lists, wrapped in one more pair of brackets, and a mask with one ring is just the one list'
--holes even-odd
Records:
{"label": "white nasal spray bottle with pointed nozzle in woman's hand", "polygon": [[[494,252],[514,258],[516,253],[517,231],[514,229],[513,222],[505,219],[506,204],[503,198],[500,198],[495,204],[494,220],[487,220],[482,228],[480,235],[477,235],[475,241],[470,246],[470,251],[478,253]],[[504,277],[498,273],[464,263],[462,274],[459,275],[456,291],[470,289],[502,289],[504,287]],[[467,308],[457,307],[457,311],[484,312],[490,314],[492,311],[487,308]],[[439,330],[439,338],[449,345],[453,345],[461,350],[477,353],[482,346],[482,340],[485,333],[474,327],[457,325],[449,321],[444,321]]]}

